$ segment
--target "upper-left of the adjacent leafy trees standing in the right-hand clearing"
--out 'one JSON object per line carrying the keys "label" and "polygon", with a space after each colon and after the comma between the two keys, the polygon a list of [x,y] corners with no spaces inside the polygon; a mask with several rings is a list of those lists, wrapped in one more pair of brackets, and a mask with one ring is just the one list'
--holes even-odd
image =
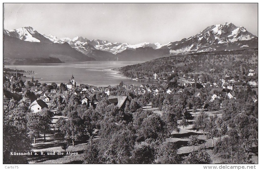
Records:
{"label": "upper-left of the adjacent leafy trees standing in the right-hand clearing", "polygon": [[208,115],[202,111],[196,118],[196,120],[194,121],[194,125],[193,128],[195,128],[197,130],[197,132],[199,130],[203,131],[203,134],[205,136],[205,130],[207,128],[207,123],[208,123]]}

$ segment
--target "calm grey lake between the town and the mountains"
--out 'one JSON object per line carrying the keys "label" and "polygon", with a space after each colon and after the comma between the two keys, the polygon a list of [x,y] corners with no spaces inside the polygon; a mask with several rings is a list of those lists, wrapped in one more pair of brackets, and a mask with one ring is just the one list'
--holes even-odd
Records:
{"label": "calm grey lake between the town and the mountains", "polygon": [[[34,74],[26,75],[26,77],[39,80],[41,83],[55,82],[68,83],[74,74],[74,79],[77,85],[89,84],[94,86],[114,86],[121,81],[127,84],[141,85],[144,80],[135,81],[131,78],[123,77],[117,74],[117,71],[111,69],[123,67],[126,65],[134,65],[141,61],[85,61],[62,64],[39,64],[39,65],[5,65],[11,69],[22,69],[25,71],[34,71]],[[148,81],[148,80],[147,80]]]}

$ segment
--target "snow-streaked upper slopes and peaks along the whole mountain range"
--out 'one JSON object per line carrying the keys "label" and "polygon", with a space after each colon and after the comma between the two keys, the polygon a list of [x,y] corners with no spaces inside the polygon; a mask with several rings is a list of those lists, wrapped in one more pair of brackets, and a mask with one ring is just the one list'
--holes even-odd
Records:
{"label": "snow-streaked upper slopes and peaks along the whole mountain range", "polygon": [[[203,51],[231,51],[240,48],[256,48],[258,46],[258,37],[249,33],[244,27],[237,27],[231,22],[226,22],[223,25],[211,25],[194,36],[164,45],[148,42],[139,44],[111,43],[107,40],[89,40],[78,36],[72,39],[57,38],[53,35],[41,35],[32,27],[23,27],[10,31],[3,30],[3,34],[29,42],[68,43],[70,47],[85,55],[93,54],[95,50],[98,50],[95,52],[95,55],[99,55],[100,58],[102,58],[102,55],[113,58],[111,53],[116,55],[126,50],[129,54],[131,53],[130,51],[135,51],[138,48],[139,50],[135,51],[137,54],[149,48],[154,50],[168,49],[167,51],[170,51],[171,54],[188,54]],[[102,53],[102,51],[105,53]],[[106,52],[110,54],[106,54]]]}

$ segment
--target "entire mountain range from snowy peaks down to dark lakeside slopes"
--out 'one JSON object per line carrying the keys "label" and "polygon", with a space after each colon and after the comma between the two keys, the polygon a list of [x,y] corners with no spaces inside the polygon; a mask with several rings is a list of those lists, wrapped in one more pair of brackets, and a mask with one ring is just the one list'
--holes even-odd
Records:
{"label": "entire mountain range from snowy peaks down to dark lakeside slopes", "polygon": [[[200,33],[168,44],[111,43],[83,37],[57,38],[38,33],[32,27],[3,30],[3,54],[7,64],[30,58],[50,60],[50,63],[89,60],[148,61],[159,57],[186,55],[207,51],[233,51],[258,48],[258,37],[244,27],[232,23],[212,25]],[[7,60],[8,59],[8,60]],[[10,62],[16,60],[16,62]],[[33,60],[37,63],[37,60]],[[35,64],[35,63],[32,63]]]}

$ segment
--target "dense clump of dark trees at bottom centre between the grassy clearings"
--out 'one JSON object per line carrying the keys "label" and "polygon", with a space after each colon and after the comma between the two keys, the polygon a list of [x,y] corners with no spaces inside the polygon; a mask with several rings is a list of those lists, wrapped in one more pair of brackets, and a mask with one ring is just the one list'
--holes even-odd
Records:
{"label": "dense clump of dark trees at bottom centre between the grassy clearings", "polygon": [[99,139],[89,141],[84,163],[181,162],[176,145],[168,141],[169,132],[177,128],[175,117],[162,119],[138,109],[126,121],[124,113],[114,105],[99,106],[98,110],[104,110]]}

